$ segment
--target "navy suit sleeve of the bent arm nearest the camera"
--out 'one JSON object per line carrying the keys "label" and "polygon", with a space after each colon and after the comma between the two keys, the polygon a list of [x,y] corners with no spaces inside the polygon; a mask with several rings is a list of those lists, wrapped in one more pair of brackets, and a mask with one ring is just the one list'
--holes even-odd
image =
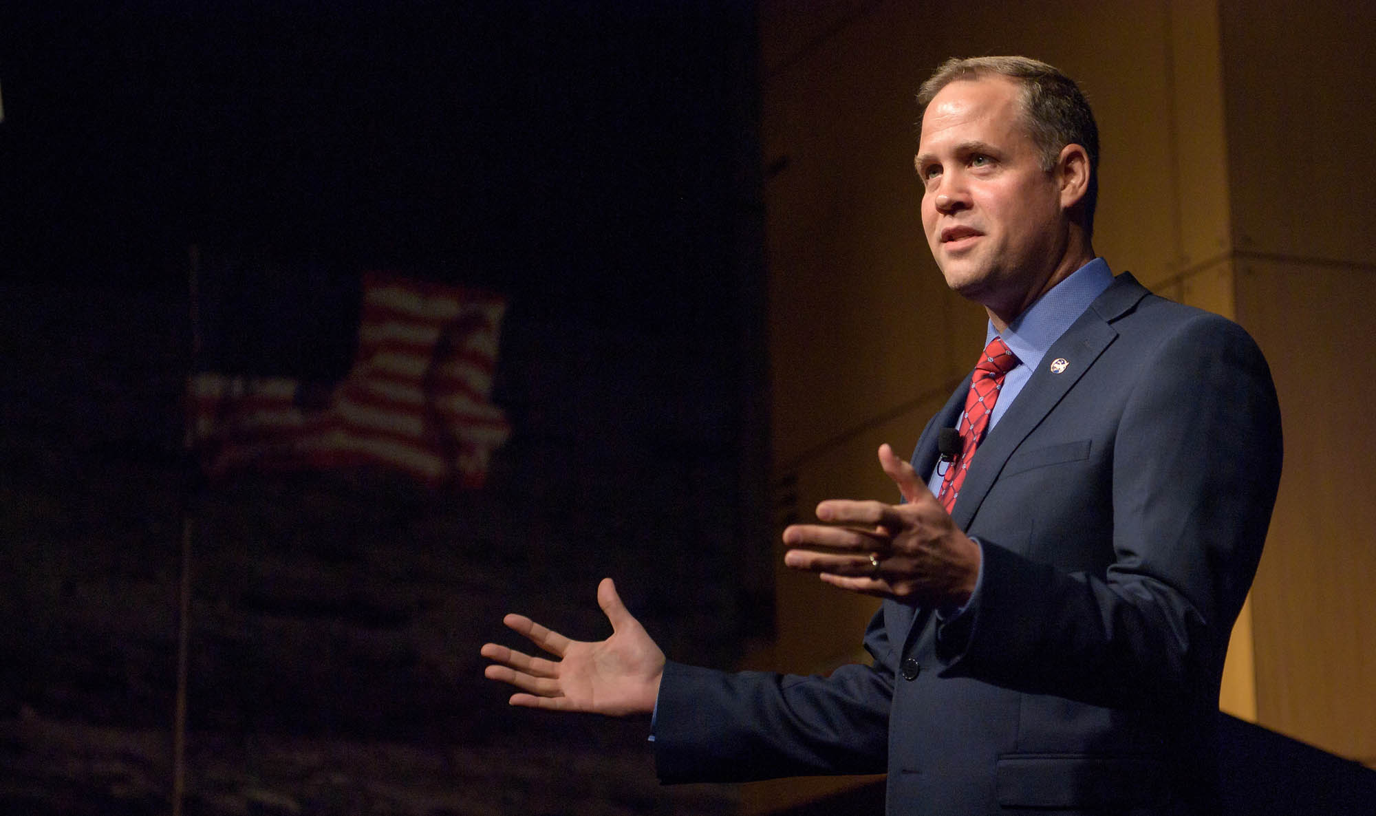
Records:
{"label": "navy suit sleeve of the bent arm nearest the camera", "polygon": [[1276,392],[1251,337],[1214,315],[1127,381],[1105,465],[1112,541],[1050,544],[1109,546],[1109,566],[1060,571],[981,537],[980,594],[938,630],[945,676],[1115,707],[1216,695],[1280,480]]}

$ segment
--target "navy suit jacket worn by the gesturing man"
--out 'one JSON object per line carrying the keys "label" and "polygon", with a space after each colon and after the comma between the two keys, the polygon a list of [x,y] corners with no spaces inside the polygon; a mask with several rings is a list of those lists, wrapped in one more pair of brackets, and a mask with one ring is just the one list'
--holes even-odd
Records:
{"label": "navy suit jacket worn by the gesturing man", "polygon": [[[918,473],[967,388],[923,429]],[[659,776],[888,772],[893,815],[1211,813],[1219,677],[1280,468],[1251,337],[1120,275],[971,460],[965,614],[885,601],[872,665],[826,677],[669,663]]]}

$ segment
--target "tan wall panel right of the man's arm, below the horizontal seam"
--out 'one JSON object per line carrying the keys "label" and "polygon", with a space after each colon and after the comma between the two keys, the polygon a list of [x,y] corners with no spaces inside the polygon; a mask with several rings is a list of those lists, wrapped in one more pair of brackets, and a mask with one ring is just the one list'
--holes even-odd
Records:
{"label": "tan wall panel right of the man's arm, below the horizontal seam", "polygon": [[1271,365],[1285,469],[1252,589],[1258,722],[1376,764],[1376,272],[1237,261],[1238,319]]}

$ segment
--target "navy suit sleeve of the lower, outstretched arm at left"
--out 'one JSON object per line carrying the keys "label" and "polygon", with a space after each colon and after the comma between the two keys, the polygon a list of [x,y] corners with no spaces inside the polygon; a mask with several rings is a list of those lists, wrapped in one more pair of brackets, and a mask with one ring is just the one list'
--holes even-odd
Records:
{"label": "navy suit sleeve of the lower, outstretched arm at left", "polygon": [[882,773],[888,762],[892,649],[878,612],[872,666],[830,676],[665,666],[655,727],[660,782],[747,782]]}

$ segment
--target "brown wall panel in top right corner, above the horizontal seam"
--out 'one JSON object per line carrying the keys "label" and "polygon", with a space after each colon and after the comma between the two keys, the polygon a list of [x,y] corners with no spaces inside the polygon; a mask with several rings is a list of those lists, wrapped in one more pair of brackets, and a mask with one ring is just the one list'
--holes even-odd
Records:
{"label": "brown wall panel in top right corner, above the horizontal seam", "polygon": [[1236,246],[1376,261],[1376,4],[1221,8]]}

